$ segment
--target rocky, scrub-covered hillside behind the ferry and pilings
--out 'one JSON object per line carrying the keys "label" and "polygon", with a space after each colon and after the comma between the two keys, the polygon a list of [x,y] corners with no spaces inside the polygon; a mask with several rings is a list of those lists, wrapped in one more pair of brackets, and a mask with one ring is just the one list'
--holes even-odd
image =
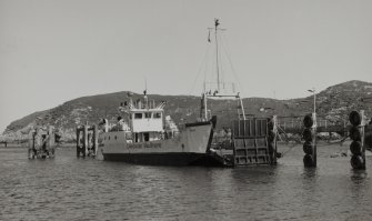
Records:
{"label": "rocky, scrub-covered hillside behind the ferry and pilings", "polygon": [[[132,99],[140,99],[141,94],[133,94]],[[348,81],[316,94],[316,112],[321,118],[331,122],[343,122],[350,110],[364,109],[372,115],[372,103],[361,102],[361,98],[372,97],[372,83],[363,81]],[[159,96],[150,94],[150,100],[157,103],[167,101],[165,114],[171,115],[175,123],[194,121],[200,113],[200,98],[192,96]],[[257,117],[278,114],[299,119],[312,111],[313,97],[291,100],[274,100],[265,98],[243,99],[247,114]],[[3,132],[2,139],[12,141],[27,138],[33,125],[52,124],[62,135],[62,140],[74,139],[74,129],[84,122],[97,123],[101,118],[117,119],[120,102],[128,100],[128,92],[82,97],[68,101],[50,110],[34,112],[11,122]],[[229,125],[235,118],[237,101],[213,100],[210,102],[212,114],[218,115],[218,127]]]}

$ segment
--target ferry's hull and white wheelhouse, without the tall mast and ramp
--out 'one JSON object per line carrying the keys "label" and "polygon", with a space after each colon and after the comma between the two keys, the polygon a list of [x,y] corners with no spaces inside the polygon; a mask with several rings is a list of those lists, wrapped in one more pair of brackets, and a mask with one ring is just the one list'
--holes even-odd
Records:
{"label": "ferry's hull and white wheelhouse, without the tall mast and ramp", "polygon": [[143,99],[135,102],[130,99],[120,106],[128,123],[119,117],[117,125],[109,129],[109,122],[103,120],[103,160],[160,165],[225,164],[210,149],[215,117],[180,128],[170,127],[172,121],[165,118],[164,106],[165,102],[150,102],[144,93]]}

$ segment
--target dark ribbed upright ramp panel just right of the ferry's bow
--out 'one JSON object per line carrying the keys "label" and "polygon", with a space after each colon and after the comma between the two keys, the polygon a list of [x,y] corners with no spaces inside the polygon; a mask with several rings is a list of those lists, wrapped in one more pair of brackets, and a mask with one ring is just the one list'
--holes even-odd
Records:
{"label": "dark ribbed upright ramp panel just right of the ferry's bow", "polygon": [[239,119],[233,121],[234,165],[271,164],[273,162],[269,144],[267,118]]}

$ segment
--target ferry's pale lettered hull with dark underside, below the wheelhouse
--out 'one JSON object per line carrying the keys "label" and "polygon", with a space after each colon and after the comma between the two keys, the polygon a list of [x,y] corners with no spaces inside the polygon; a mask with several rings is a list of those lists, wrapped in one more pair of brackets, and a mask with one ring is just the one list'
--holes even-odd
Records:
{"label": "ferry's pale lettered hull with dark underside, below the wheelhouse", "polygon": [[[151,165],[223,165],[211,153],[214,122],[188,123],[179,137],[127,143],[122,132],[103,134],[103,160]],[[112,139],[114,138],[114,139]]]}

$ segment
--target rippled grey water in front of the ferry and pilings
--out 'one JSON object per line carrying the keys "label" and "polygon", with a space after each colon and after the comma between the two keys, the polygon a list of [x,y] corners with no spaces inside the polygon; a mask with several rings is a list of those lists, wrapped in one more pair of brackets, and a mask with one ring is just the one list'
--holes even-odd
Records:
{"label": "rippled grey water in front of the ferry and pilings", "polygon": [[354,220],[372,218],[372,169],[319,149],[318,168],[302,147],[278,165],[237,169],[145,167],[77,159],[28,160],[0,149],[0,220]]}

